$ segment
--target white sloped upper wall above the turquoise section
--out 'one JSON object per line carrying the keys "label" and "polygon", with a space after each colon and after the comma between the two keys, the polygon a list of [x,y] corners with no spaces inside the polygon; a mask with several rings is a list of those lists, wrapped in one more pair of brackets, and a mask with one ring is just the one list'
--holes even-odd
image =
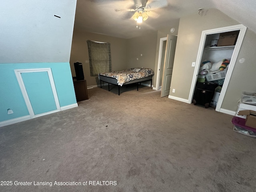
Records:
{"label": "white sloped upper wall above the turquoise section", "polygon": [[2,0],[0,63],[69,62],[75,9],[76,0]]}

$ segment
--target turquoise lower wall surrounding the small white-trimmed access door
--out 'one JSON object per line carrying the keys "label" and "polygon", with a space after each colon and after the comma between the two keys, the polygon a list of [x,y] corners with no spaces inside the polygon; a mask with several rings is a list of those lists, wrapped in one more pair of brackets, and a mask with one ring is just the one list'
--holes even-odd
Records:
{"label": "turquoise lower wall surrounding the small white-trimmed access door", "polygon": [[29,115],[14,69],[34,68],[51,68],[60,107],[76,104],[69,62],[0,64],[0,122]]}

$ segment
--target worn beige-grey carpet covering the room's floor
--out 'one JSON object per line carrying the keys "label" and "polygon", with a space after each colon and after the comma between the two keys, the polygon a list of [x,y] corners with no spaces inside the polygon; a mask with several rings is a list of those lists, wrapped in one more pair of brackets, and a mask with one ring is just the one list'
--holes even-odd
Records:
{"label": "worn beige-grey carpet covering the room's floor", "polygon": [[120,96],[107,87],[77,108],[0,128],[0,181],[12,181],[0,191],[255,191],[256,140],[234,132],[232,116],[150,87]]}

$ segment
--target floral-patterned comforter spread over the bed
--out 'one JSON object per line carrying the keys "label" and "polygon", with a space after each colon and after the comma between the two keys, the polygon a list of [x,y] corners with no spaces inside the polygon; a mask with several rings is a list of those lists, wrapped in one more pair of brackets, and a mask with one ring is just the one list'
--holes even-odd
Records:
{"label": "floral-patterned comforter spread over the bed", "polygon": [[128,81],[154,75],[154,71],[149,68],[130,68],[122,71],[99,73],[99,79],[100,75],[115,78],[117,79],[118,85],[122,86],[124,83]]}

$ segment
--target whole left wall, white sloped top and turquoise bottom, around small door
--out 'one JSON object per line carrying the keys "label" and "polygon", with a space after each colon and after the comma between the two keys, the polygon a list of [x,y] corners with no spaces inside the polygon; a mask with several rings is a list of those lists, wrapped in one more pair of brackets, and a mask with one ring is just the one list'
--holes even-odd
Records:
{"label": "whole left wall, white sloped top and turquoise bottom, around small door", "polygon": [[28,119],[14,69],[51,68],[60,106],[77,106],[69,65],[75,9],[76,0],[1,1],[0,126]]}

